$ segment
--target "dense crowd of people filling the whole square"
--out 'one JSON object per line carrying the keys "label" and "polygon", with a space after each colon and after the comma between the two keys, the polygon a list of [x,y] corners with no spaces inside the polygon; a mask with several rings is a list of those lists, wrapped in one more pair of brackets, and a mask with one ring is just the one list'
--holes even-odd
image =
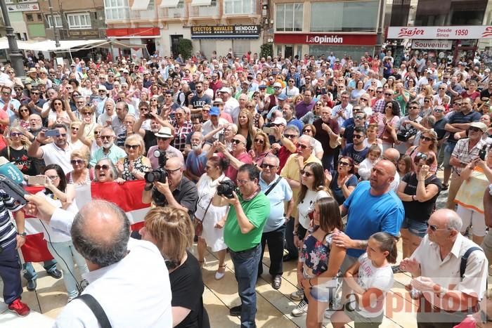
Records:
{"label": "dense crowd of people filling the whole square", "polygon": [[[230,52],[210,60],[200,53],[186,60],[75,58],[65,67],[32,57],[26,75],[20,80],[9,65],[0,69],[0,156],[22,172],[22,185],[44,187],[28,197],[28,208],[47,220],[54,260],[44,268],[63,277],[67,289],[58,327],[87,314],[84,294],[103,305],[113,326],[131,327],[135,319],[117,321],[101,292],[117,284],[103,286],[110,277],[101,272],[119,277],[133,273],[131,266],[166,275],[153,275],[160,276],[153,287],[140,282],[139,292],[163,288],[140,304],[150,313],[161,302],[144,316],[145,327],[209,327],[200,270],[207,248],[219,258],[216,280],[231,257],[241,303],[230,314],[240,316],[241,327],[256,327],[255,285],[266,246],[273,289],[283,282],[283,263],[297,261],[298,290],[290,297],[299,303],[291,314],[306,315],[307,327],[326,319],[334,327],[378,327],[384,296],[403,271],[413,276],[411,296],[421,300],[419,327],[453,327],[478,311],[492,260],[483,202],[492,183],[492,79],[477,58],[448,64],[410,51],[396,67],[384,49],[361,58]],[[136,180],[145,180],[142,202],[155,208],[131,242],[115,206],[77,207],[80,185]],[[436,210],[444,190],[447,209]],[[25,242],[25,215],[8,195],[3,199],[4,300],[27,315],[20,269],[12,264]],[[58,209],[70,217],[61,227]],[[98,220],[101,227],[84,229]],[[155,244],[162,263],[155,262],[157,250],[133,237]],[[103,256],[112,242],[153,260]],[[467,254],[477,245],[483,249]],[[75,263],[90,278],[82,295]],[[36,289],[32,265],[24,268],[27,289]],[[127,288],[121,293],[135,294]],[[450,310],[445,301],[460,307]],[[429,319],[429,305],[453,313],[452,320]],[[172,322],[159,321],[169,313]]]}

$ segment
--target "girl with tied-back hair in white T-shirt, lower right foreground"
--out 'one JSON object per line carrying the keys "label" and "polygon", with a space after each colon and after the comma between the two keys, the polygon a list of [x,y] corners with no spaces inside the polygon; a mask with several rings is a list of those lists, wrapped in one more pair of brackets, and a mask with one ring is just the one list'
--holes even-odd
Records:
{"label": "girl with tied-back hair in white T-shirt, lower right foreground", "polygon": [[354,321],[354,327],[379,327],[384,315],[384,299],[393,287],[391,264],[396,262],[396,238],[376,232],[368,240],[367,252],[345,273],[344,284],[352,289],[343,310],[330,318],[334,328]]}

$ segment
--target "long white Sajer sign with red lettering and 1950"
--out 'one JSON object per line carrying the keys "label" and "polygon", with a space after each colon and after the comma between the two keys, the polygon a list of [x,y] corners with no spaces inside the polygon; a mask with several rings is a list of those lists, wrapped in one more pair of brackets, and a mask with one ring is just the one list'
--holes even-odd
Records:
{"label": "long white Sajer sign with red lettering and 1950", "polygon": [[492,26],[390,26],[387,39],[492,39]]}

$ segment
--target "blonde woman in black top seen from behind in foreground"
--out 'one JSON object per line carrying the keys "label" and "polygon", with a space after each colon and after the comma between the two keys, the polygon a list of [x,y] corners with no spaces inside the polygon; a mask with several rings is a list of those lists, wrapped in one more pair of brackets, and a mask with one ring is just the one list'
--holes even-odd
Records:
{"label": "blonde woman in black top seen from behind in foreground", "polygon": [[202,271],[195,256],[187,251],[193,247],[195,235],[188,213],[169,206],[155,207],[148,211],[139,232],[142,240],[157,246],[166,262],[171,283],[173,327],[210,327],[203,306]]}

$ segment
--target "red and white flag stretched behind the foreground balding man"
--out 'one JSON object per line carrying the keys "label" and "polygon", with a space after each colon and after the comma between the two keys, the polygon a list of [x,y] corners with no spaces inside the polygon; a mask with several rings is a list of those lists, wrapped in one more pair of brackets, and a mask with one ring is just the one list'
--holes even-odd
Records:
{"label": "red and white flag stretched behind the foreground balding man", "polygon": [[[144,186],[145,181],[143,180],[127,181],[122,185],[114,182],[91,183],[90,185],[77,186],[75,200],[79,209],[92,199],[104,199],[108,202],[113,202],[127,214],[131,230],[138,230],[143,226],[143,218],[150,209],[150,204],[142,203]],[[43,190],[43,188],[27,187],[26,190],[35,194],[39,190]],[[42,262],[53,258],[48,251],[48,247],[46,247],[46,240],[43,239],[43,228],[39,218],[27,216],[25,231],[27,232],[27,237],[24,246],[21,248],[24,261]]]}

